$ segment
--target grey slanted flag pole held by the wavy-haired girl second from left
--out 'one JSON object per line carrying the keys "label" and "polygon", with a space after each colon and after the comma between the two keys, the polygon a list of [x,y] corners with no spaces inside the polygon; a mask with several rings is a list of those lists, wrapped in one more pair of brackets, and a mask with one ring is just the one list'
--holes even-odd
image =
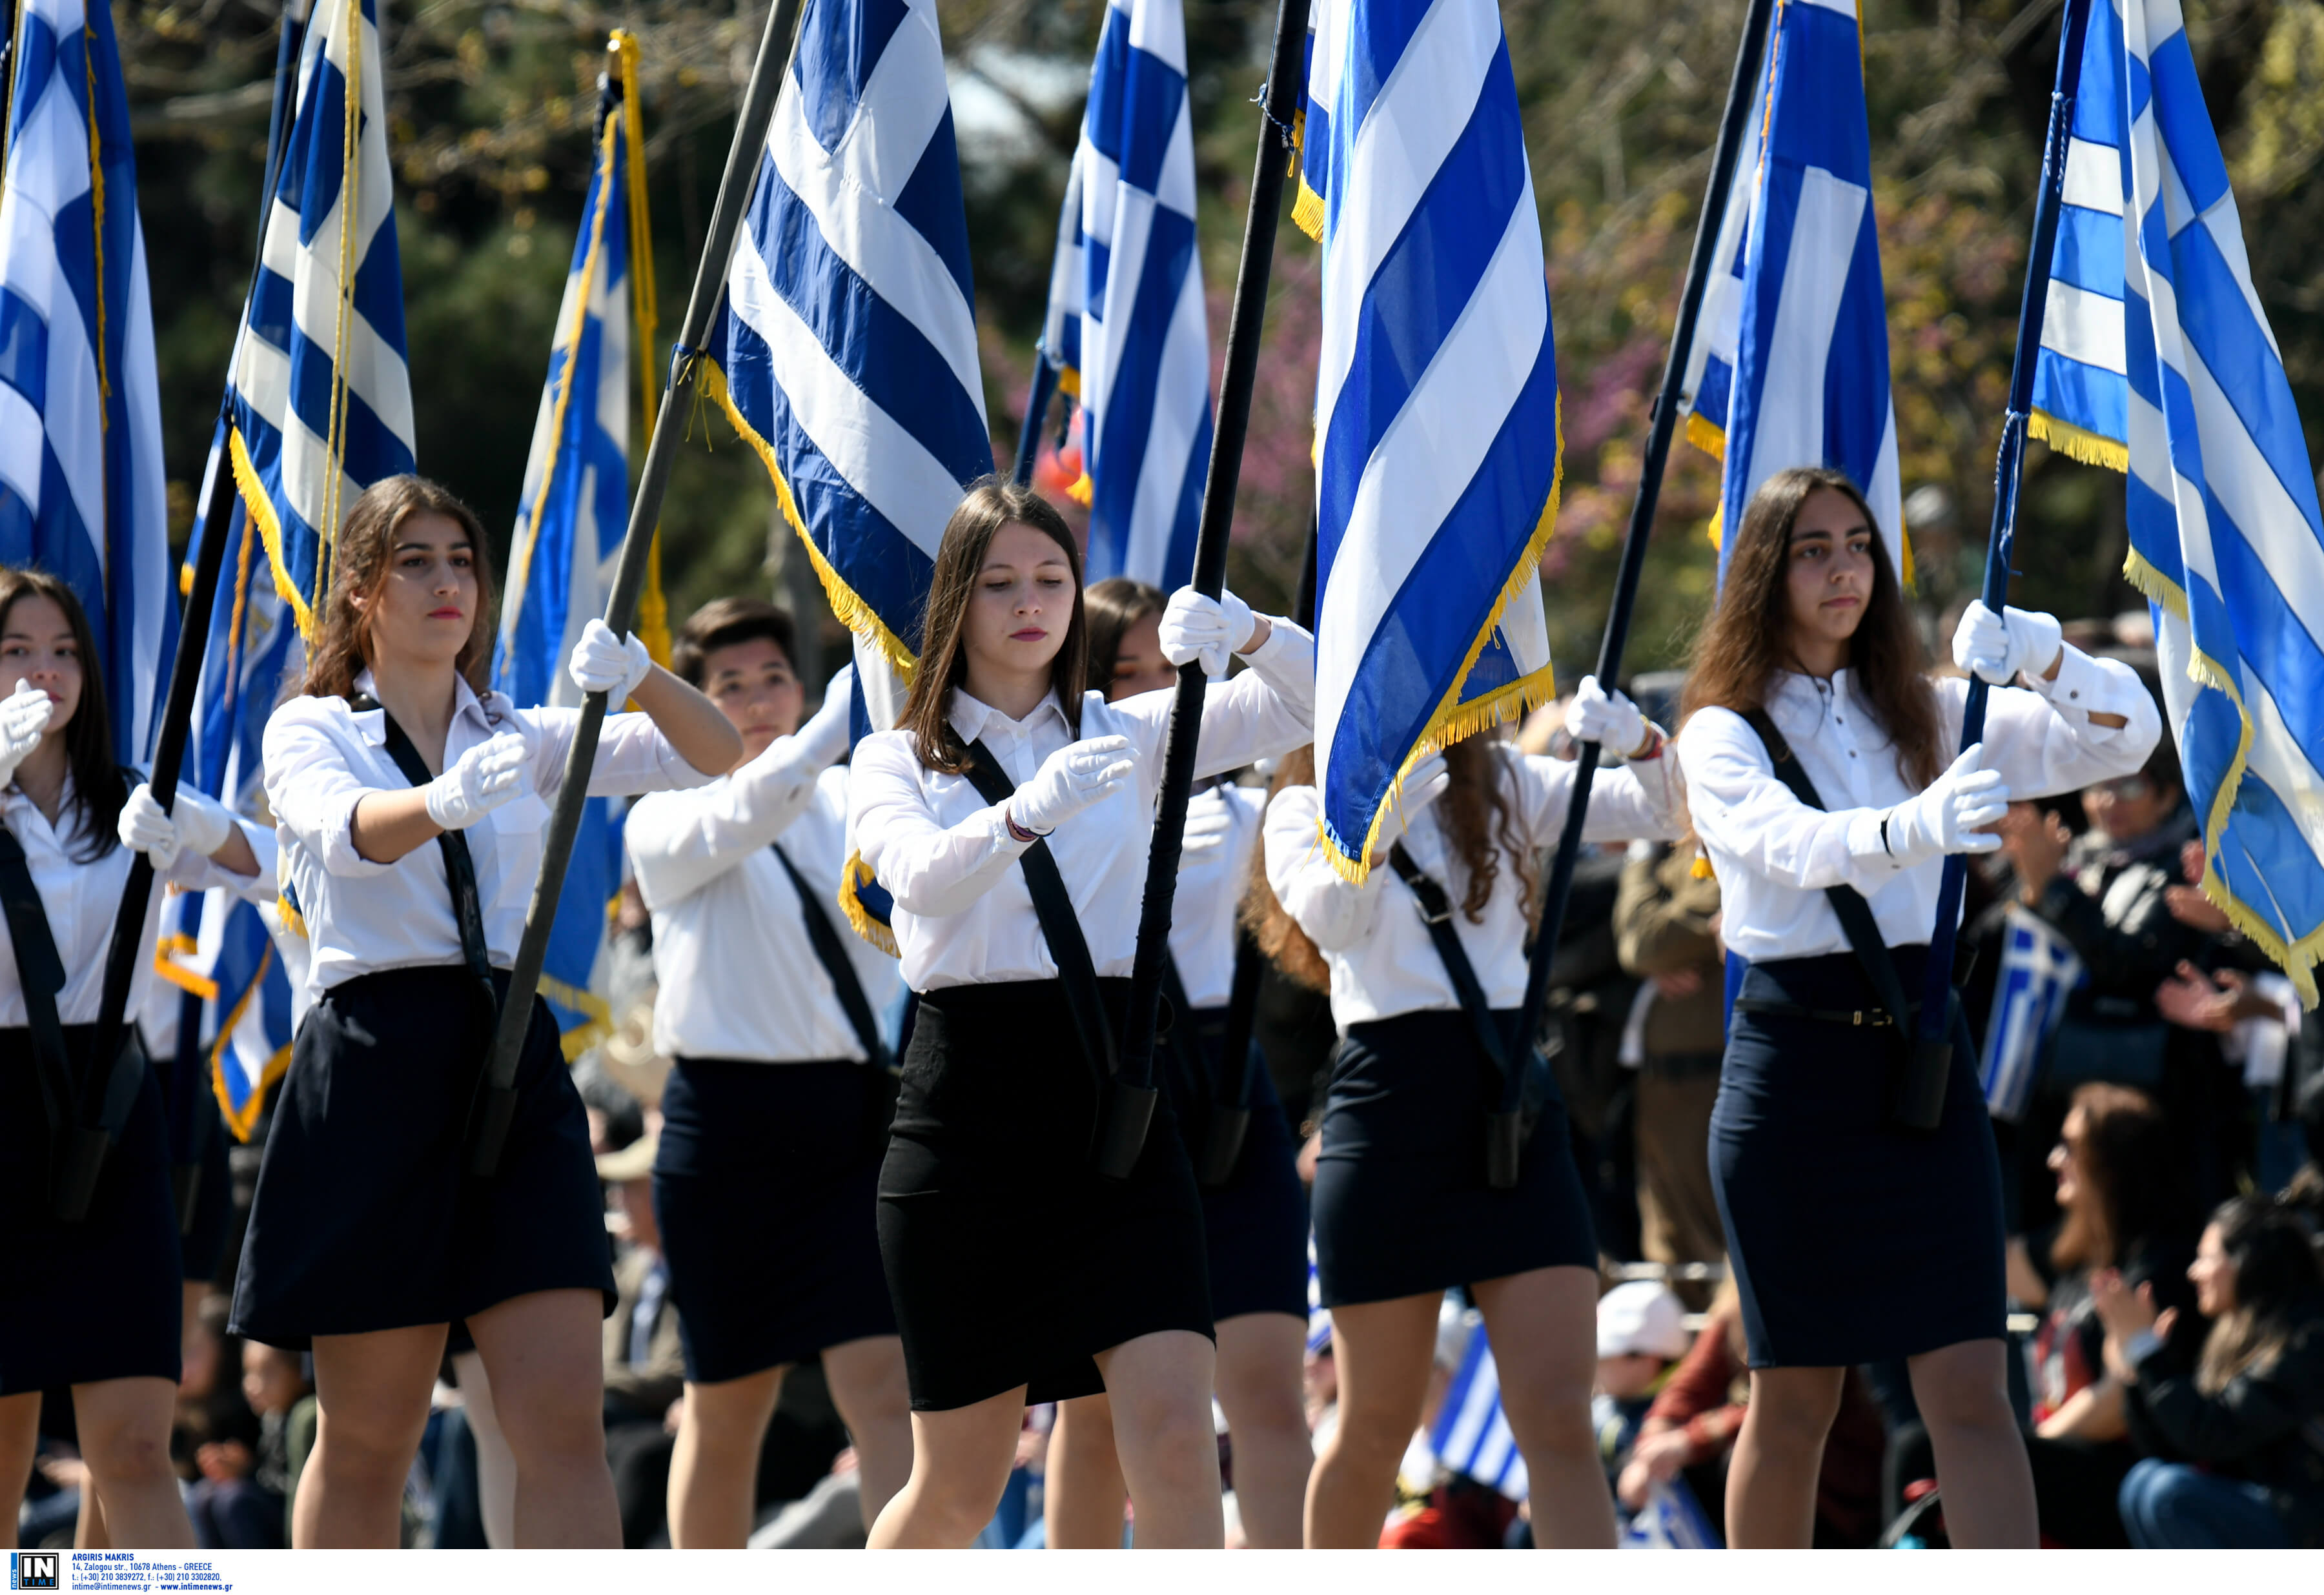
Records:
{"label": "grey slanted flag pole held by the wavy-haired girl second from left", "polygon": [[[727,265],[734,258],[734,239],[741,233],[744,209],[751,202],[760,151],[767,146],[774,102],[783,88],[783,77],[790,72],[790,51],[802,9],[804,0],[776,0],[767,7],[767,30],[758,42],[758,60],[751,65],[751,84],[744,88],[741,114],[734,121],[734,142],[727,146],[725,174],[718,179],[718,202],[711,207],[709,242],[695,267],[693,298],[686,300],[686,321],[669,356],[669,379],[653,416],[653,435],[646,442],[646,465],[637,474],[637,498],[630,502],[630,525],[621,539],[621,565],[614,574],[614,591],[604,600],[604,623],[621,635],[630,632],[637,593],[646,584],[653,528],[662,516],[669,467],[686,432],[688,405],[683,398],[702,374],[711,319],[725,295]],[[644,151],[634,151],[632,158],[641,160]],[[590,693],[581,700],[581,723],[574,725],[572,749],[565,756],[565,781],[558,786],[555,809],[551,809],[548,830],[541,837],[541,874],[532,884],[532,907],[525,909],[525,937],[516,946],[509,995],[500,1004],[493,1053],[476,1097],[469,1170],[481,1176],[490,1176],[500,1167],[500,1149],[507,1142],[509,1118],[516,1111],[516,1065],[525,1053],[525,1030],[532,1025],[532,995],[541,984],[548,932],[558,918],[558,893],[565,886],[565,870],[572,865],[574,839],[581,832],[581,809],[588,802],[588,772],[597,763],[597,735],[604,730],[604,693]]]}

